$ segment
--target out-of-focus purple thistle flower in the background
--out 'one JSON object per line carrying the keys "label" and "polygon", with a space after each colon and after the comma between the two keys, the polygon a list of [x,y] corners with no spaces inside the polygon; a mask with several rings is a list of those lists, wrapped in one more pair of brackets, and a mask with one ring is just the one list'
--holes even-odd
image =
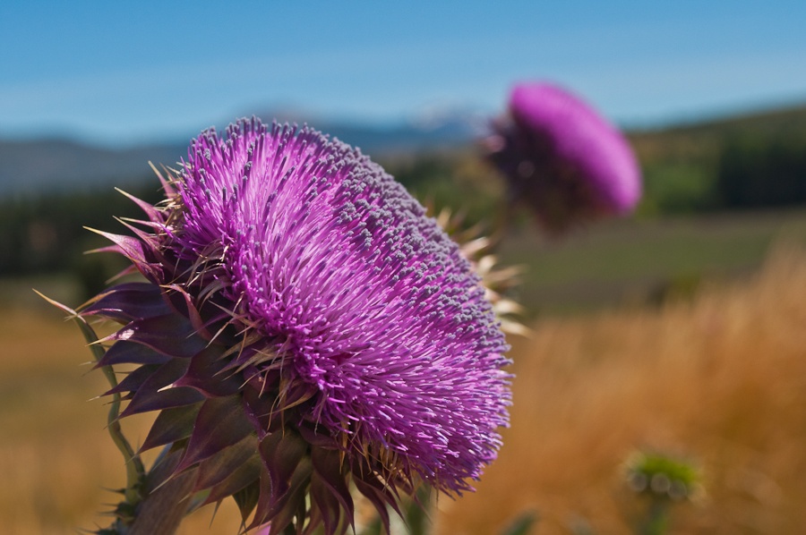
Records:
{"label": "out-of-focus purple thistle flower in the background", "polygon": [[487,159],[549,232],[623,215],[638,202],[640,171],[629,142],[579,98],[546,83],[512,90],[509,114],[493,121]]}

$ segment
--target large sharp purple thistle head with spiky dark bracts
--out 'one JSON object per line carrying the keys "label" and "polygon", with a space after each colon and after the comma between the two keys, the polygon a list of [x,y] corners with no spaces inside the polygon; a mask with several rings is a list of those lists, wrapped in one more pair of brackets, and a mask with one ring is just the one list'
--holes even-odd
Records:
{"label": "large sharp purple thistle head with spiky dark bracts", "polygon": [[272,534],[347,531],[350,483],[387,525],[420,481],[471,489],[508,424],[508,347],[424,208],[357,149],[256,119],[174,173],[133,235],[101,233],[147,282],[79,311],[122,325],[99,366],[139,366],[108,394],[159,411],[142,447],[181,455],[168,479]]}

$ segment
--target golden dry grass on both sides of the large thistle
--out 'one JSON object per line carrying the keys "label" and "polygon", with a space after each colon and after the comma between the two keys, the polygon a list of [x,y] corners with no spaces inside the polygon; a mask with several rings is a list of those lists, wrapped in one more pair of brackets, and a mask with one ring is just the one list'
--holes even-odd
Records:
{"label": "golden dry grass on both sides of the large thistle", "polygon": [[[513,338],[515,404],[476,494],[442,497],[442,535],[491,534],[536,511],[537,534],[630,532],[639,500],[621,467],[636,448],[696,461],[705,491],[672,533],[802,533],[806,526],[806,253],[688,301],[538,318]],[[105,388],[56,310],[0,318],[0,532],[75,533],[107,520],[122,460],[103,429]],[[126,422],[133,442],[147,420]],[[234,535],[226,503],[181,533]],[[592,531],[583,531],[587,523]]]}

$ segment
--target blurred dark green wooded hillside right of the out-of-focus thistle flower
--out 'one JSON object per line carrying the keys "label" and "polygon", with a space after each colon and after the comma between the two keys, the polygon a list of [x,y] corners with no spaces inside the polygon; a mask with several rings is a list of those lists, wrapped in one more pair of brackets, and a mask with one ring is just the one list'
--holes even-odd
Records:
{"label": "blurred dark green wooded hillside right of the out-of-focus thistle flower", "polygon": [[806,107],[633,132],[645,216],[806,203]]}

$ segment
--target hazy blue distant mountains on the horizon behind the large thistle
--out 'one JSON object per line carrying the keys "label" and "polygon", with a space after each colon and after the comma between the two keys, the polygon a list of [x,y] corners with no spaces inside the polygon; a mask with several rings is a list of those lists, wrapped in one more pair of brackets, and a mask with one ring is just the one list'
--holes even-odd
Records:
{"label": "hazy blue distant mountains on the horizon behind the large thistle", "polygon": [[[280,115],[282,121],[299,118]],[[275,116],[272,114],[264,117]],[[298,115],[297,115],[298,117]],[[311,121],[313,127],[373,157],[466,145],[476,135],[471,115],[444,115],[421,123],[367,125]],[[0,140],[0,197],[45,191],[97,189],[141,180],[149,162],[174,166],[187,153],[187,141],[127,149],[107,149],[74,140]]]}

